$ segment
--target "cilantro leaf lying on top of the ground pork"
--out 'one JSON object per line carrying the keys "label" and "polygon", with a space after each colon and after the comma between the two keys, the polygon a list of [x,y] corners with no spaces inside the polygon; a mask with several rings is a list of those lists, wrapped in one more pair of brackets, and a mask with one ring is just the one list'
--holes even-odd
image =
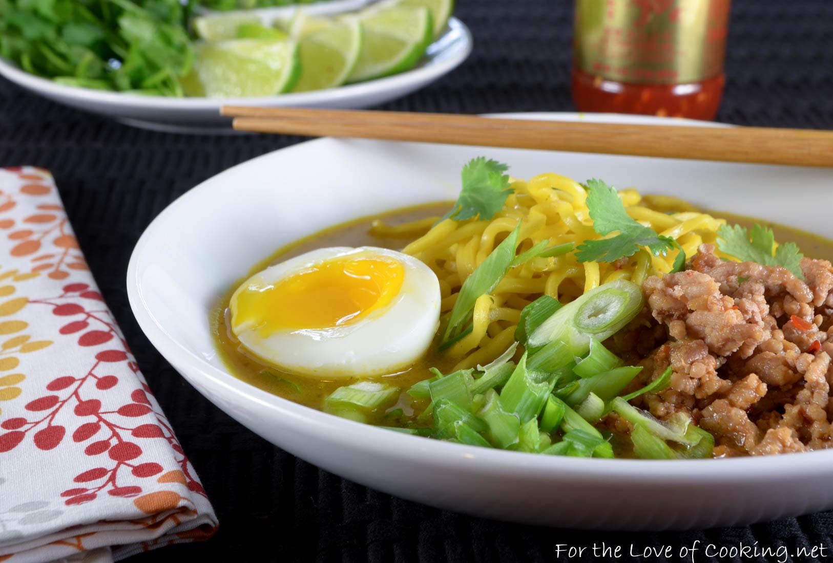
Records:
{"label": "cilantro leaf lying on top of the ground pork", "polygon": [[764,266],[782,266],[804,279],[801,272],[801,259],[804,255],[795,243],[781,244],[773,251],[776,238],[772,230],[761,225],[754,225],[751,231],[741,225],[722,225],[717,230],[717,248],[724,254],[734,256],[744,262],[755,262]]}

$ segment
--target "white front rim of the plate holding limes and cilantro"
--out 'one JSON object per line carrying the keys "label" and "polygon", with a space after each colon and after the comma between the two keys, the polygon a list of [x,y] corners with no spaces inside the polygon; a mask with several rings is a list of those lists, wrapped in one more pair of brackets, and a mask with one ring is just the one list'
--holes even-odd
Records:
{"label": "white front rim of the plate holding limes and cilantro", "polygon": [[[80,86],[66,86],[47,78],[37,77],[14,63],[0,57],[0,76],[20,86],[42,94],[48,93],[52,96],[63,98],[81,99],[84,101],[97,102],[107,106],[137,107],[147,109],[171,109],[171,110],[210,110],[219,111],[220,106],[303,106],[305,104],[318,105],[322,103],[335,103],[356,96],[372,94],[377,91],[396,90],[402,86],[408,86],[414,82],[430,81],[451,72],[468,58],[473,48],[471,31],[466,24],[456,17],[448,20],[449,30],[446,34],[434,42],[433,53],[428,55],[429,64],[413,68],[410,71],[401,72],[392,77],[377,78],[367,82],[338,86],[327,90],[296,92],[279,94],[277,96],[262,96],[249,98],[197,98],[197,97],[166,97],[166,96],[141,96],[138,94],[127,94],[117,91],[101,91]],[[449,45],[444,46],[443,42]],[[441,57],[451,45],[457,44],[456,52],[451,56]],[[435,47],[436,46],[436,47]],[[429,47],[429,49],[431,49]]]}

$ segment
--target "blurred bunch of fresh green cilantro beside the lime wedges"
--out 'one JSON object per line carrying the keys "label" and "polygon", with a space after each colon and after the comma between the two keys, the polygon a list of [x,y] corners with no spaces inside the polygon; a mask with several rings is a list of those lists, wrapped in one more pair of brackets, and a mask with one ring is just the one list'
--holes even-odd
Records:
{"label": "blurred bunch of fresh green cilantro beside the lime wedges", "polygon": [[182,96],[193,3],[0,0],[0,56],[70,86]]}

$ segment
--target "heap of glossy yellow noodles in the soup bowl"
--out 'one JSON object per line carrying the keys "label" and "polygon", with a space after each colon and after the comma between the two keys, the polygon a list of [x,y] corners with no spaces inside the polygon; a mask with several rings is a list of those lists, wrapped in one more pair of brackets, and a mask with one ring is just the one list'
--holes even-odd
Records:
{"label": "heap of glossy yellow noodles in the soup bowl", "polygon": [[[518,221],[518,253],[542,240],[549,240],[552,246],[602,238],[593,230],[586,205],[588,191],[575,180],[541,174],[529,181],[513,179],[511,189],[503,210],[491,220],[446,219],[436,225],[436,220],[421,220],[396,226],[377,222],[372,234],[406,237],[424,233],[402,251],[428,264],[440,280],[442,314],[451,311],[463,281],[516,228]],[[686,256],[696,254],[702,243],[716,244],[717,230],[726,224],[677,198],[643,197],[635,189],[621,190],[619,195],[631,218],[676,239]],[[654,256],[642,248],[630,258],[611,263],[580,263],[574,252],[531,259],[512,268],[492,294],[477,299],[471,333],[447,353],[460,358],[455,369],[486,364],[514,342],[521,309],[541,294],[564,303],[614,279],[641,284],[652,274],[670,272],[676,254],[672,250],[666,256]]]}

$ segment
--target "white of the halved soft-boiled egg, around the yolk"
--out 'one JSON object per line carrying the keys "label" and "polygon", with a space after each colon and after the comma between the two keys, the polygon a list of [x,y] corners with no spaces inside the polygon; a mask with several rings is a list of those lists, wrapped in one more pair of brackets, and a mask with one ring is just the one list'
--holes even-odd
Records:
{"label": "white of the halved soft-boiled egg, around the yolk", "polygon": [[312,250],[252,275],[232,295],[264,287],[297,272],[348,255],[397,260],[404,269],[402,288],[390,304],[352,323],[330,328],[297,328],[266,338],[257,327],[233,328],[242,346],[262,361],[292,373],[347,378],[397,373],[415,363],[431,345],[440,319],[440,284],[420,260],[395,250],[362,246]]}

